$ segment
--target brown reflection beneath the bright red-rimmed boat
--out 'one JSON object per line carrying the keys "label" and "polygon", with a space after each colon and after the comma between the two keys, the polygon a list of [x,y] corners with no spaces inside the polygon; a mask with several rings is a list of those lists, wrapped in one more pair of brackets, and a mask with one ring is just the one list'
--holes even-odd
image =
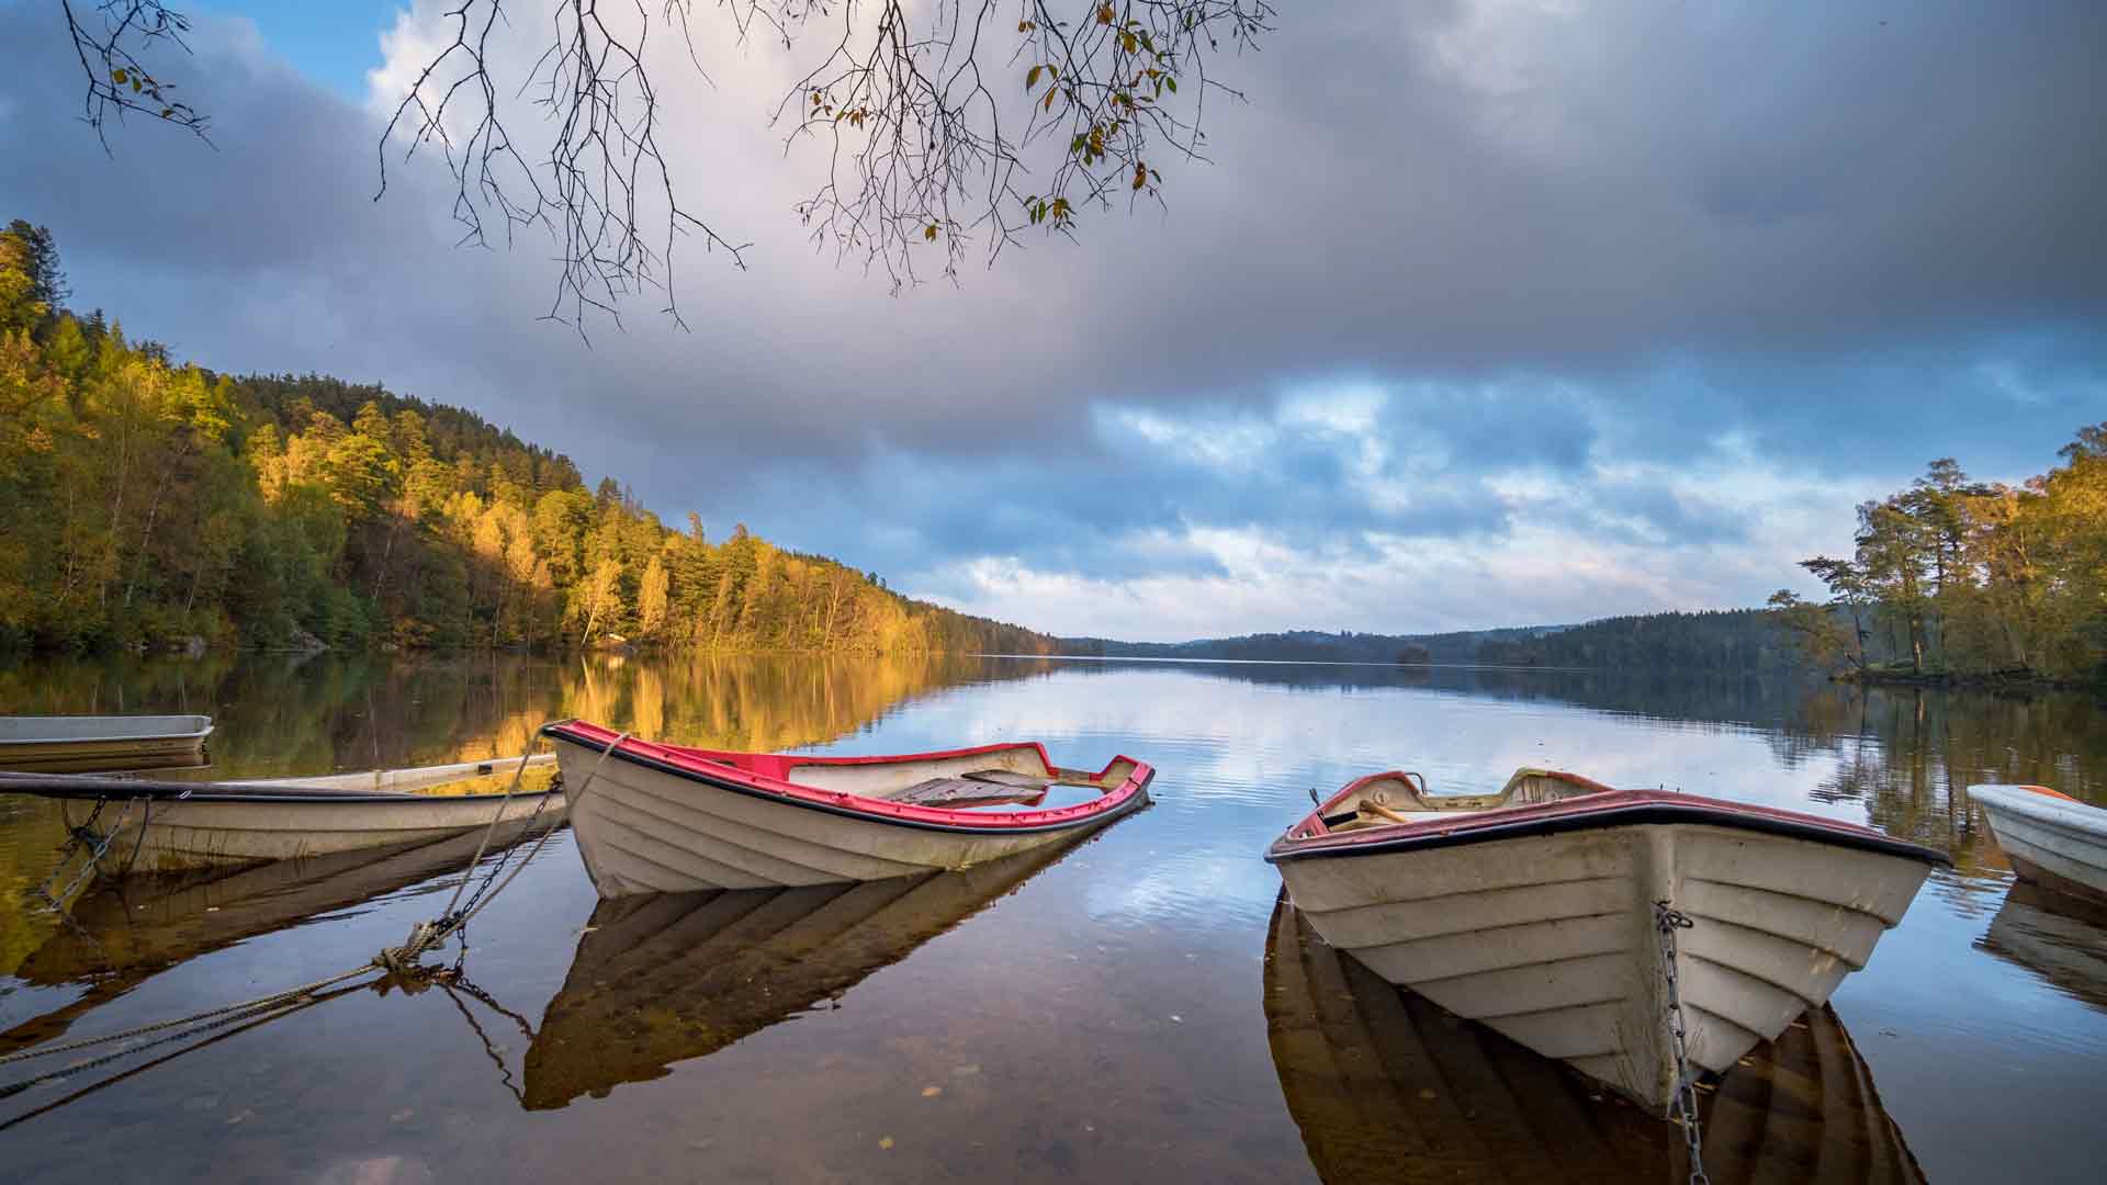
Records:
{"label": "brown reflection beneath the bright red-rimmed boat", "polygon": [[788,1021],[1070,850],[883,881],[603,900],[527,1048],[523,1103],[546,1111],[579,1094],[603,1099]]}

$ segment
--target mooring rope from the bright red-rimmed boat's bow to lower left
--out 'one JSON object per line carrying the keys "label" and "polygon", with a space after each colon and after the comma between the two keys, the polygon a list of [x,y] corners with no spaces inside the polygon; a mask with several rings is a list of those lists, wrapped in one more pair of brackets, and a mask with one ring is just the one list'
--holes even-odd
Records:
{"label": "mooring rope from the bright red-rimmed boat's bow to lower left", "polygon": [[[577,799],[582,799],[586,795],[586,789],[592,786],[592,780],[600,776],[600,770],[607,765],[607,759],[628,738],[630,738],[630,734],[624,732],[613,742],[609,742],[607,749],[600,751],[600,759],[592,765],[592,772],[586,774],[586,780],[579,782],[579,786],[577,786],[575,793],[569,786],[565,786],[565,808],[567,810],[571,805],[575,805]],[[93,1058],[67,1065],[63,1069],[55,1069],[55,1071],[36,1075],[36,1077],[32,1077],[27,1082],[11,1084],[11,1086],[0,1086],[0,1096],[17,1094],[17,1092],[21,1092],[21,1090],[25,1090],[29,1086],[40,1084],[40,1082],[53,1082],[53,1080],[67,1077],[67,1075],[74,1075],[74,1073],[80,1073],[80,1071],[86,1071],[86,1069],[95,1069],[99,1065],[107,1065],[107,1063],[112,1063],[116,1058],[129,1056],[129,1054],[139,1052],[143,1048],[152,1048],[152,1046],[158,1046],[158,1044],[181,1040],[185,1035],[194,1035],[194,1033],[219,1029],[219,1027],[225,1027],[225,1025],[234,1025],[234,1023],[238,1023],[242,1018],[261,1018],[261,1014],[270,1014],[270,1012],[287,1008],[287,1006],[299,1006],[303,999],[312,1002],[314,993],[324,991],[324,989],[335,987],[335,985],[341,985],[346,980],[354,980],[354,978],[369,976],[369,974],[375,974],[375,972],[405,974],[405,976],[407,974],[421,974],[428,968],[419,966],[417,959],[421,959],[424,953],[430,951],[432,947],[445,943],[449,934],[459,932],[464,926],[468,926],[468,919],[472,919],[476,913],[483,913],[493,900],[497,900],[497,894],[501,894],[520,873],[527,871],[527,865],[533,862],[533,858],[541,852],[541,846],[548,843],[548,837],[556,833],[556,827],[560,827],[560,820],[558,820],[558,822],[552,822],[550,827],[541,829],[541,835],[535,839],[533,850],[529,850],[527,858],[523,858],[516,867],[512,867],[510,875],[506,875],[495,886],[491,886],[491,877],[485,877],[485,886],[480,890],[476,890],[476,896],[470,898],[468,909],[461,911],[461,913],[455,913],[455,907],[461,900],[461,892],[468,888],[468,881],[474,879],[476,865],[483,860],[485,852],[489,852],[491,835],[497,831],[497,824],[504,820],[506,805],[512,801],[512,795],[518,789],[520,778],[527,774],[527,761],[529,761],[529,757],[531,757],[531,753],[525,755],[525,757],[520,757],[520,768],[512,774],[512,786],[506,789],[504,801],[497,803],[497,816],[491,818],[491,827],[485,829],[483,843],[476,846],[476,854],[474,854],[474,858],[470,858],[468,869],[461,873],[461,881],[453,888],[453,898],[447,902],[447,909],[438,917],[434,917],[430,921],[419,921],[417,926],[413,926],[411,932],[409,932],[409,938],[405,938],[405,943],[400,947],[383,947],[377,955],[373,955],[373,959],[369,959],[362,966],[337,972],[337,974],[327,976],[327,978],[318,978],[314,983],[303,983],[299,987],[291,987],[291,989],[284,989],[284,991],[274,991],[270,995],[259,995],[255,999],[242,999],[238,1004],[225,1004],[221,1008],[209,1008],[204,1012],[192,1012],[190,1016],[177,1016],[173,1021],[154,1021],[150,1025],[135,1025],[131,1029],[124,1029],[124,1031],[118,1031],[118,1033],[103,1033],[99,1037],[82,1037],[78,1042],[65,1042],[65,1044],[57,1044],[57,1046],[44,1046],[44,1048],[13,1052],[13,1054],[0,1054],[0,1065],[13,1065],[13,1063],[21,1063],[21,1061],[42,1058],[42,1056],[53,1056],[53,1054],[65,1054],[65,1052],[76,1052],[76,1050],[88,1050],[88,1048],[95,1048],[95,1046],[107,1046],[112,1042],[129,1042],[129,1040],[135,1040],[135,1037],[145,1037],[150,1033],[166,1033],[171,1029],[179,1029],[175,1033],[169,1033],[164,1037],[156,1037],[156,1040],[139,1044],[139,1046],[126,1046],[122,1050],[112,1050],[107,1054],[93,1056]],[[546,805],[546,803],[548,803],[548,799],[544,799],[541,805]],[[97,803],[97,812],[99,810],[101,810],[101,803]],[[541,814],[539,805],[535,808],[535,814],[537,816]],[[91,820],[93,820],[93,816],[91,816]],[[122,818],[120,818],[120,822],[122,822]],[[533,818],[529,818],[529,827],[531,824],[533,824]],[[112,835],[116,835],[116,831],[112,831]],[[103,846],[107,848],[107,837],[105,837]],[[510,852],[506,854],[506,860],[510,860]],[[491,873],[493,877],[495,877],[495,873],[499,869],[506,867],[506,860],[501,860],[493,869],[493,873]]]}

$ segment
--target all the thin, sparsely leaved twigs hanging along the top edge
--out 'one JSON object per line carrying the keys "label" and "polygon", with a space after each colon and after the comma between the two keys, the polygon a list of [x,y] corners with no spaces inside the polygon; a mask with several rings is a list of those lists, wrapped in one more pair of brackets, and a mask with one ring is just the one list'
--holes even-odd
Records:
{"label": "all the thin, sparsely leaved twigs hanging along the top edge", "polygon": [[[154,110],[200,131],[133,57],[183,44],[190,23],[152,0],[105,0],[88,36],[65,2],[88,74],[97,129],[110,108]],[[525,78],[499,80],[493,38],[508,4],[457,0],[451,40],[424,63],[379,139],[379,198],[390,152],[436,150],[453,177],[461,242],[489,245],[539,226],[556,247],[550,318],[586,331],[592,314],[664,293],[676,325],[674,253],[702,238],[744,268],[748,245],[712,228],[676,192],[662,150],[664,110],[647,65],[657,27],[695,53],[695,0],[550,0],[548,48]],[[786,150],[813,141],[824,181],[796,205],[813,242],[860,255],[893,287],[921,280],[936,253],[957,276],[976,242],[988,264],[1026,230],[1072,236],[1085,209],[1161,205],[1163,169],[1205,160],[1201,116],[1222,48],[1271,32],[1273,0],[712,0],[737,42],[792,51],[826,25],[824,57],[775,110]],[[1013,21],[1007,13],[1013,13]],[[1013,30],[1011,30],[1013,23]],[[97,65],[99,63],[99,65]],[[708,78],[704,74],[704,78]],[[516,91],[506,91],[516,86]],[[1180,93],[1182,91],[1182,93]],[[512,124],[537,108],[516,139]],[[541,148],[533,148],[541,145]],[[1037,179],[1032,179],[1037,177]]]}

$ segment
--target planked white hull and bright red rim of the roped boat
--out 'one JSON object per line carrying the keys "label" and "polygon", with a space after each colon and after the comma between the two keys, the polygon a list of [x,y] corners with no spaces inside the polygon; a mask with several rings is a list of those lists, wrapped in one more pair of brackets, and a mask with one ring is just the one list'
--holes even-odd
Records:
{"label": "planked white hull and bright red rim of the roped boat", "polygon": [[[881,765],[914,763],[944,774],[990,761],[1054,770],[1037,744],[990,746],[914,759],[790,759],[801,782],[742,776],[702,751],[624,742],[552,725],[565,784],[573,786],[571,829],[603,898],[647,892],[708,892],[879,881],[959,871],[1060,846],[1140,810],[1153,770],[1119,759],[1100,774],[1117,784],[1089,808],[988,816],[904,808],[853,789]],[[603,755],[607,759],[603,761]],[[718,755],[725,761],[765,755]],[[588,784],[590,778],[590,784]],[[575,793],[584,786],[584,793]],[[1058,816],[1058,818],[1056,818]]]}

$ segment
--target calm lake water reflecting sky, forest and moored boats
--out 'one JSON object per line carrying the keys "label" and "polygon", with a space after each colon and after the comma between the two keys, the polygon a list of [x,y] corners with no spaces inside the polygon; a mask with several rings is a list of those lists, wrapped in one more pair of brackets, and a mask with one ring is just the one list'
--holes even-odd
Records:
{"label": "calm lake water reflecting sky, forest and moored boats", "polygon": [[[352,989],[13,1090],[0,1179],[1671,1179],[1679,1137],[1372,987],[1275,913],[1308,791],[1517,765],[1871,822],[1941,871],[1835,1018],[1709,1101],[1732,1179],[2099,1181],[2107,928],[2012,888],[1970,782],[2107,803],[2086,696],[1656,675],[1049,660],[312,658],[0,668],[0,711],[204,711],[206,776],[518,753],[544,719],[740,749],[1039,738],[1155,805],[1032,867],[598,907],[558,833],[470,932],[472,985]],[[196,776],[196,774],[190,774]],[[99,888],[0,797],[0,1052],[188,1014],[400,943],[468,852]],[[472,846],[470,846],[472,850]],[[447,959],[453,957],[449,949]],[[434,959],[436,961],[436,959]],[[65,1061],[63,1056],[59,1061]],[[1637,1166],[1637,1168],[1635,1168]]]}

